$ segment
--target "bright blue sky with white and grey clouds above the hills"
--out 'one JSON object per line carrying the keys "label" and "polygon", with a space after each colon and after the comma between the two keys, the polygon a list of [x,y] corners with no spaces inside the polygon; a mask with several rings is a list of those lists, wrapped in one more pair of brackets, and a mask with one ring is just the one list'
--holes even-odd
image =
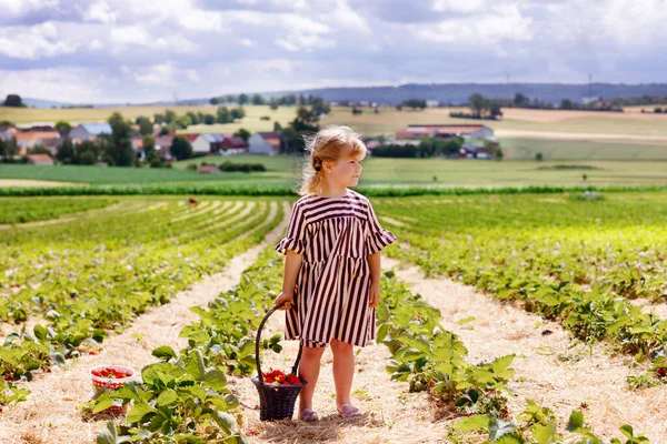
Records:
{"label": "bright blue sky with white and grey clouds above the hills", "polygon": [[667,0],[0,0],[0,97],[667,82]]}

